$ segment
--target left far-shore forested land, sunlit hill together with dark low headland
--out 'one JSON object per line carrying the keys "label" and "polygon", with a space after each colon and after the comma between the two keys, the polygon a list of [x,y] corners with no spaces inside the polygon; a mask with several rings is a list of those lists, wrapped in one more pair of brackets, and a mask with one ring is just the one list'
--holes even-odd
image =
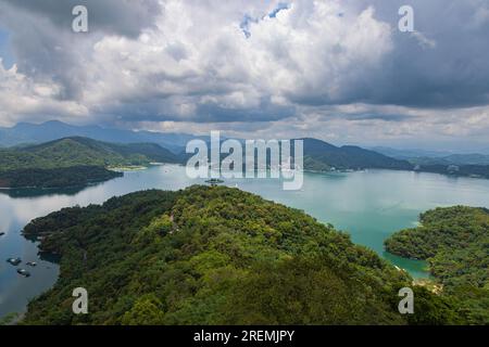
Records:
{"label": "left far-shore forested land, sunlit hill together with dark low headland", "polygon": [[1,188],[82,187],[123,176],[117,166],[178,163],[170,151],[152,143],[114,144],[66,138],[39,145],[0,150]]}

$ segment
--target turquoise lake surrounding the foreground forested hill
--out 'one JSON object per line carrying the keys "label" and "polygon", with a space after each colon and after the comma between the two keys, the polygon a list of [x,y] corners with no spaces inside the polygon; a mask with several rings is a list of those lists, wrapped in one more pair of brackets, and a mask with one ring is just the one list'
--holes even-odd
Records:
{"label": "turquoise lake surrounding the foreground forested hill", "polygon": [[[59,267],[39,259],[37,244],[21,235],[33,218],[74,205],[100,204],[146,189],[178,190],[203,180],[187,178],[185,167],[165,165],[125,172],[117,178],[84,190],[0,191],[0,317],[23,312],[28,299],[50,288]],[[299,208],[322,222],[351,234],[353,242],[377,252],[415,278],[427,277],[424,261],[406,260],[384,250],[389,234],[416,226],[419,213],[437,206],[489,207],[489,180],[454,178],[409,171],[368,170],[348,174],[305,174],[301,191],[284,191],[274,179],[227,180],[229,187],[259,194],[267,200]],[[16,273],[5,259],[21,257],[30,278]],[[36,261],[35,268],[25,267]]]}

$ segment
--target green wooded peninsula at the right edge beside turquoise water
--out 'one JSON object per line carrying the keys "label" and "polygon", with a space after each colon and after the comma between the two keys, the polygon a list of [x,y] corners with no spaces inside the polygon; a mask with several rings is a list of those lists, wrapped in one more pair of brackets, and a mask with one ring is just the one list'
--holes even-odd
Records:
{"label": "green wooded peninsula at the right edge beside turquoise water", "polygon": [[489,210],[437,208],[421,215],[421,223],[389,237],[387,250],[427,259],[443,293],[462,301],[469,321],[489,324]]}

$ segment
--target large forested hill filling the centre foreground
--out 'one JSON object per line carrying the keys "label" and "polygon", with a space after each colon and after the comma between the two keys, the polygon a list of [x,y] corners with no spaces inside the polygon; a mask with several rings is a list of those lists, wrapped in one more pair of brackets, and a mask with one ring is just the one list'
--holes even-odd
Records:
{"label": "large forested hill filling the centre foreground", "polygon": [[[453,323],[442,298],[331,226],[229,188],[114,197],[29,223],[61,256],[60,279],[28,306],[26,324]],[[72,313],[72,291],[89,313]]]}

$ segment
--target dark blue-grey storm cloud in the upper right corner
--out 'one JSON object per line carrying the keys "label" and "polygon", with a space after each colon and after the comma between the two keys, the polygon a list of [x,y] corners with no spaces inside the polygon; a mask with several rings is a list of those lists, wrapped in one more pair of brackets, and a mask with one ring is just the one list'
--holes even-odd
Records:
{"label": "dark blue-grey storm cloud in the upper right corner", "polygon": [[[394,49],[363,102],[414,107],[466,107],[489,102],[487,0],[369,0],[394,28]],[[414,10],[415,34],[398,30],[401,5]]]}

